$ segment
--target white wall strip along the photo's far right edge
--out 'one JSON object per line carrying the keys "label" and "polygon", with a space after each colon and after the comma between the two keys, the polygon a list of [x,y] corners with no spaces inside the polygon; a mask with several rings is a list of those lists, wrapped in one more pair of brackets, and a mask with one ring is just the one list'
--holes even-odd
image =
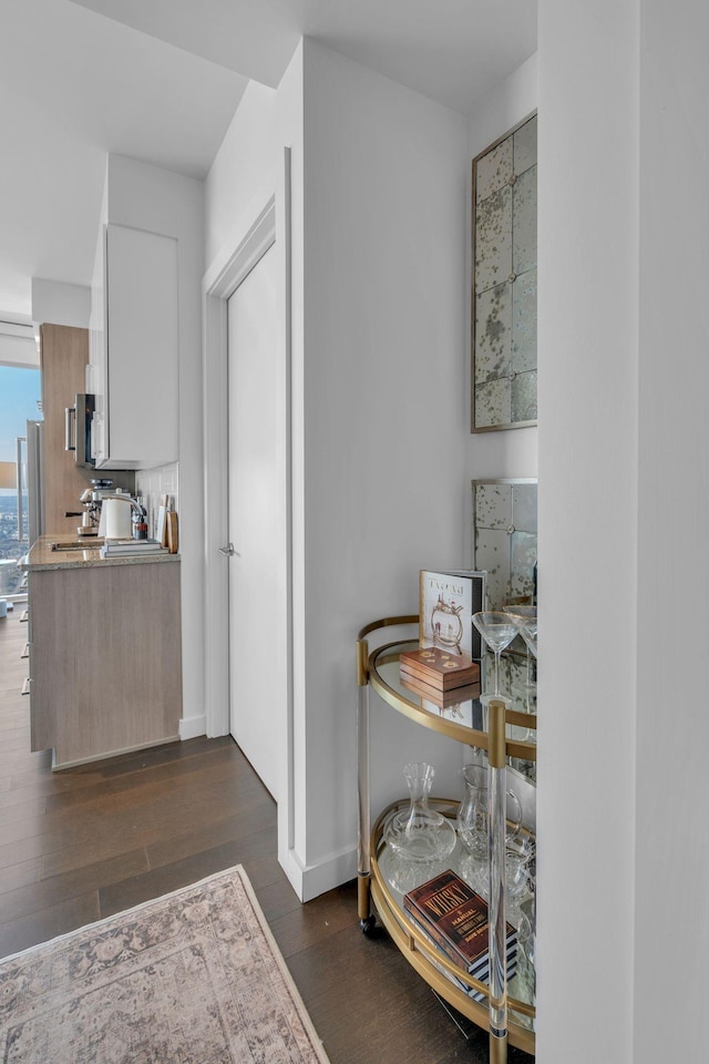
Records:
{"label": "white wall strip along the photo's far right edge", "polygon": [[[699,0],[640,6],[638,1064],[709,1055],[708,40]],[[669,976],[660,991],[657,973]]]}

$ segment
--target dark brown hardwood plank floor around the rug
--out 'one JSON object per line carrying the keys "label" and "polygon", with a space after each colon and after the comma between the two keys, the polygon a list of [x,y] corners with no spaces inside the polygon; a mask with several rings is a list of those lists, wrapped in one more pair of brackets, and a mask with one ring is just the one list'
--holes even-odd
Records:
{"label": "dark brown hardwood plank floor around the rug", "polygon": [[[307,904],[276,858],[276,807],[230,738],[197,738],[52,774],[30,753],[17,607],[0,620],[0,956],[243,864],[331,1064],[479,1064],[356,887]],[[512,1062],[532,1057],[510,1050]]]}

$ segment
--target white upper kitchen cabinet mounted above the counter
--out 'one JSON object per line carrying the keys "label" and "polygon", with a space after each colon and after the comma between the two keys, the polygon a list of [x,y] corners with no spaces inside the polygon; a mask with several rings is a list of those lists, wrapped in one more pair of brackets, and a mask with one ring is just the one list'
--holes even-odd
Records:
{"label": "white upper kitchen cabinet mounted above the counter", "polygon": [[96,247],[86,391],[97,469],[178,459],[177,239],[107,223]]}

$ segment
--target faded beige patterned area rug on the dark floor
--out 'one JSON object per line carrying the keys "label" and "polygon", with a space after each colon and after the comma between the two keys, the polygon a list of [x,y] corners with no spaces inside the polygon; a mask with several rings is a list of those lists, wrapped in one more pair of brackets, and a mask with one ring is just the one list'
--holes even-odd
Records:
{"label": "faded beige patterned area rug on the dark floor", "polygon": [[327,1056],[239,866],[1,961],[0,1061]]}

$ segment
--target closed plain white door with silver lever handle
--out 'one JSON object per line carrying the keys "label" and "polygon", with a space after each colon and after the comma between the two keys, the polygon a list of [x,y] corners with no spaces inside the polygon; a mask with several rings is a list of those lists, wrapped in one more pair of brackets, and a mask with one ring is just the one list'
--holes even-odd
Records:
{"label": "closed plain white door with silver lever handle", "polygon": [[286,375],[275,247],[228,299],[230,733],[278,800],[285,741]]}

